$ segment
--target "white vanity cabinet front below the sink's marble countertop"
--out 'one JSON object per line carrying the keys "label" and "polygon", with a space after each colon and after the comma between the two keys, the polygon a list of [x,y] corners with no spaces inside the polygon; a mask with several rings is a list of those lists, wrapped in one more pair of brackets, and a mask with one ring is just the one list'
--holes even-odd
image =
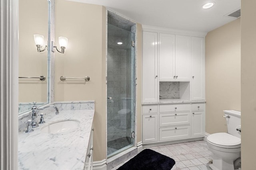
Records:
{"label": "white vanity cabinet front below the sink's marble countertop", "polygon": [[94,128],[91,130],[90,134],[90,139],[89,139],[89,144],[86,152],[86,158],[85,158],[85,163],[84,163],[84,170],[92,170],[92,165],[93,165],[93,132]]}

